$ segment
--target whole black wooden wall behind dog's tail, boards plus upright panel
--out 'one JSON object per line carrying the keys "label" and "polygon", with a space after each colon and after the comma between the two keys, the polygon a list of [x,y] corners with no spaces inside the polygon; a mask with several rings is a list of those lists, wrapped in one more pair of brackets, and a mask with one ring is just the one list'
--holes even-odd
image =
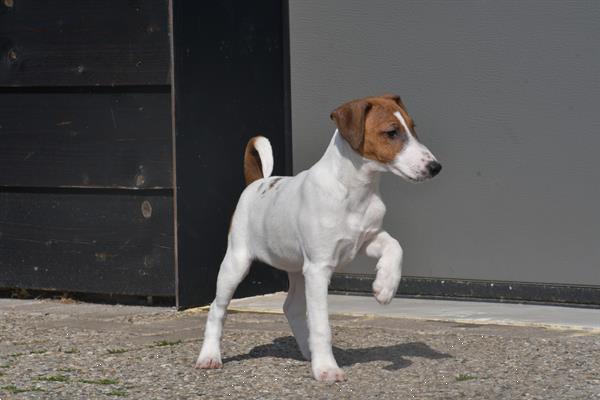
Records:
{"label": "whole black wooden wall behind dog's tail, boards plus upright panel", "polygon": [[0,289],[211,301],[246,141],[291,172],[287,34],[286,1],[0,2]]}

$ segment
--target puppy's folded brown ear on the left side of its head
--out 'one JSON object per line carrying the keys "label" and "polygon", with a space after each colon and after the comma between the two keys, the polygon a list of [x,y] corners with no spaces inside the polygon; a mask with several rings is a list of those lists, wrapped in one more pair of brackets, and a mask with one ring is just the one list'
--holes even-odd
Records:
{"label": "puppy's folded brown ear on the left side of its head", "polygon": [[365,137],[365,120],[371,104],[366,100],[353,100],[342,104],[331,113],[330,117],[340,134],[354,150],[358,150]]}

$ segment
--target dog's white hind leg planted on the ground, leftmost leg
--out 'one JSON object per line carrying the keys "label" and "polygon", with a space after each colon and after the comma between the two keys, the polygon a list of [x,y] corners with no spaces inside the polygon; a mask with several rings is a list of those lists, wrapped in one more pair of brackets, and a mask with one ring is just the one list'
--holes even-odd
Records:
{"label": "dog's white hind leg planted on the ground, leftmost leg", "polygon": [[252,259],[245,249],[232,249],[229,245],[217,277],[217,295],[210,305],[204,342],[196,361],[196,368],[221,368],[221,336],[227,315],[227,306],[235,289],[248,273]]}

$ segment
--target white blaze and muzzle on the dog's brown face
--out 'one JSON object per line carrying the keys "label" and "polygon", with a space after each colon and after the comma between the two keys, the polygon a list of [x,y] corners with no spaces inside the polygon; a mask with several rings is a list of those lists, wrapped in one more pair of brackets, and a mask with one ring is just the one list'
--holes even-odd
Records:
{"label": "white blaze and muzzle on the dog's brown face", "polygon": [[399,172],[400,176],[413,180],[423,179],[428,174],[427,163],[434,161],[435,157],[415,138],[400,111],[396,111],[394,116],[398,118],[406,131],[407,143],[392,162],[392,172]]}

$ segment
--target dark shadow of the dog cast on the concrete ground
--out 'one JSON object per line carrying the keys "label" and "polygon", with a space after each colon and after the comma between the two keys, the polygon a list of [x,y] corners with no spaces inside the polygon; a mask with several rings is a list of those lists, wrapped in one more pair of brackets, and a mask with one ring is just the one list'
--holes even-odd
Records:
{"label": "dark shadow of the dog cast on the concrete ground", "polygon": [[[384,369],[388,371],[406,368],[412,361],[406,357],[424,357],[429,359],[451,358],[446,353],[436,351],[422,342],[400,343],[391,346],[373,346],[360,349],[341,349],[333,347],[333,354],[340,367],[371,361],[387,361],[390,364]],[[293,336],[282,336],[273,343],[254,347],[246,354],[228,357],[223,362],[243,361],[252,358],[277,357],[305,361]]]}

